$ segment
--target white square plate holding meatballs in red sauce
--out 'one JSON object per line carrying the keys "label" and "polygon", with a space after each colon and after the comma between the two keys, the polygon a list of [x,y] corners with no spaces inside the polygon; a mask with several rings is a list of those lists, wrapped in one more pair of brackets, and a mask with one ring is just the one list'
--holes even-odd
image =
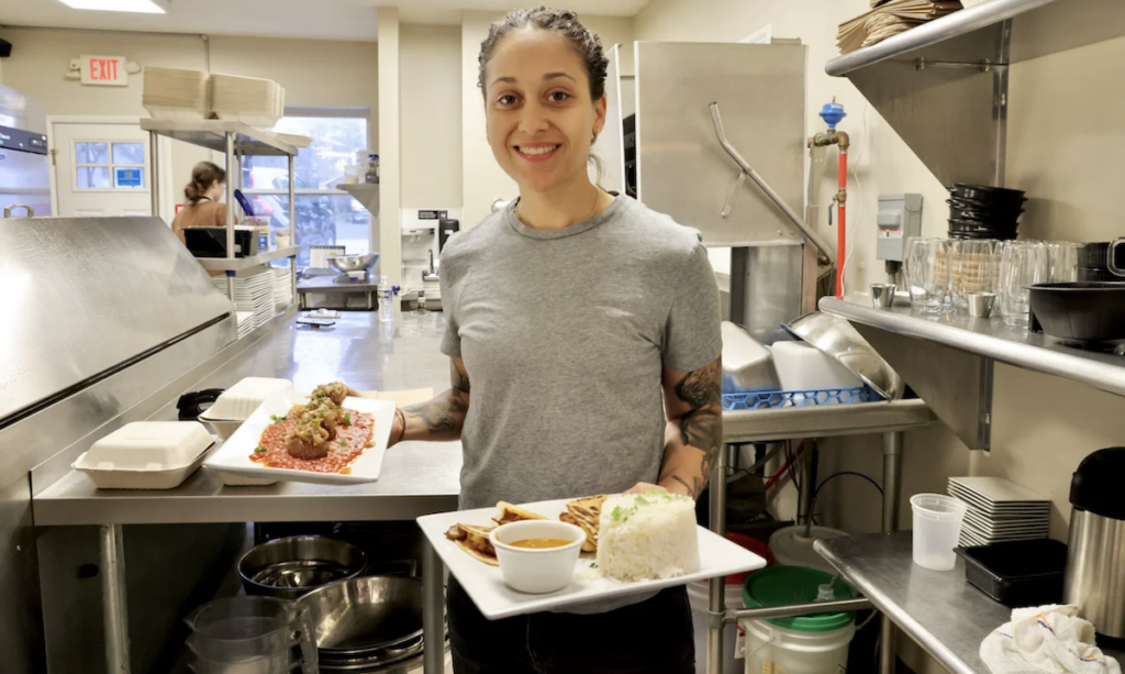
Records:
{"label": "white square plate holding meatballs in red sauce", "polygon": [[291,468],[270,468],[252,460],[250,455],[262,439],[262,432],[273,423],[273,416],[285,416],[296,403],[308,402],[308,396],[294,393],[278,393],[263,402],[250,419],[244,421],[231,439],[223,443],[218,451],[204,462],[204,466],[216,470],[225,470],[234,475],[254,478],[268,478],[285,482],[307,482],[322,485],[353,485],[379,479],[382,468],[382,455],[387,451],[387,440],[390,438],[390,426],[395,420],[395,404],[390,401],[371,398],[344,398],[343,406],[349,410],[370,414],[375,417],[375,430],[371,442],[363,453],[351,465],[349,475],[339,473],[313,473]]}

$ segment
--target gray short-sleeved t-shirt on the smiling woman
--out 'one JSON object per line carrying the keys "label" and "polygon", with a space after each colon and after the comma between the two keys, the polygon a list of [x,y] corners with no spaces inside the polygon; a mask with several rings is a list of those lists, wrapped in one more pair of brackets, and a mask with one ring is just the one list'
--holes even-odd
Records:
{"label": "gray short-sleeved t-shirt on the smiling woman", "polygon": [[441,255],[442,352],[471,387],[461,509],[655,483],[660,375],[719,358],[719,290],[696,230],[618,197],[562,230],[514,206]]}

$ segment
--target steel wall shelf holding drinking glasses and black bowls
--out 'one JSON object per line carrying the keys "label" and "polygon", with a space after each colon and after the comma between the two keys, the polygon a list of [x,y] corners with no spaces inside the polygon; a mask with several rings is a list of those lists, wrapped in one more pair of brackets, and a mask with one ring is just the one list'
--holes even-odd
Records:
{"label": "steel wall shelf holding drinking glasses and black bowls", "polygon": [[855,323],[1125,396],[1125,358],[1063,347],[1044,334],[1008,327],[998,318],[922,316],[909,307],[876,309],[831,297],[820,300],[820,309]]}

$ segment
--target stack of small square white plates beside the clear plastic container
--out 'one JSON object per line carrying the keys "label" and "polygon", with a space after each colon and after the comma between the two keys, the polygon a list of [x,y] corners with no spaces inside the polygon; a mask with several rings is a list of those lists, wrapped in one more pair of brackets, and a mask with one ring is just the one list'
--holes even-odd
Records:
{"label": "stack of small square white plates beside the clear plastic container", "polygon": [[1051,501],[1002,477],[951,477],[950,495],[969,506],[963,547],[1047,538]]}

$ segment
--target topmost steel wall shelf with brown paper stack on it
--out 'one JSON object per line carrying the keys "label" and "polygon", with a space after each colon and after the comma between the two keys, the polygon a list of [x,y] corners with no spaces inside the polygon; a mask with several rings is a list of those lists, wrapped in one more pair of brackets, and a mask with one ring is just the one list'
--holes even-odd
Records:
{"label": "topmost steel wall shelf with brown paper stack on it", "polygon": [[[1006,59],[998,38],[1009,28]],[[832,59],[825,71],[843,77],[883,61],[921,57],[927,64],[1017,63],[1122,35],[1125,6],[1117,0],[989,0]]]}

